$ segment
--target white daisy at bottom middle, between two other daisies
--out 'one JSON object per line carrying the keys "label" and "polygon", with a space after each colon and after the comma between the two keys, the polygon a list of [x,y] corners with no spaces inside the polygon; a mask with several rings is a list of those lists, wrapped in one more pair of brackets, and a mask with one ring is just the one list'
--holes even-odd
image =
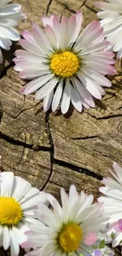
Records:
{"label": "white daisy at bottom middle, between two other daisies", "polygon": [[78,195],[75,186],[71,186],[69,196],[61,188],[61,205],[53,195],[47,194],[53,210],[39,204],[35,211],[36,224],[29,224],[30,232],[26,232],[28,240],[22,247],[30,248],[26,256],[66,256],[88,255],[91,246],[85,243],[89,232],[97,234],[106,220],[102,217],[102,204],[93,202],[93,195]]}

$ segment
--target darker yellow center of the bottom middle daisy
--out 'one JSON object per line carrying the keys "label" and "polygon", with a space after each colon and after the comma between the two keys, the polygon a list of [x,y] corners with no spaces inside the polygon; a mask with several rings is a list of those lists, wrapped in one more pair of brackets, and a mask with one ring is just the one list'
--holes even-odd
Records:
{"label": "darker yellow center of the bottom middle daisy", "polygon": [[79,225],[75,223],[69,223],[59,234],[58,243],[61,247],[61,250],[70,252],[78,249],[81,239],[82,230]]}

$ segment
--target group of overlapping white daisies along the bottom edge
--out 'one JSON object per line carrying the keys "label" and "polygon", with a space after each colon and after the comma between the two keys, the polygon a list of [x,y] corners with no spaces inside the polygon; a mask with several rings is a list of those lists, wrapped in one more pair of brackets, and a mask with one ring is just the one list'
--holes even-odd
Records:
{"label": "group of overlapping white daisies along the bottom edge", "polygon": [[71,185],[69,194],[61,188],[61,204],[20,176],[0,173],[0,245],[11,256],[20,247],[25,256],[113,256],[109,243],[122,243],[122,168],[113,169],[98,202]]}

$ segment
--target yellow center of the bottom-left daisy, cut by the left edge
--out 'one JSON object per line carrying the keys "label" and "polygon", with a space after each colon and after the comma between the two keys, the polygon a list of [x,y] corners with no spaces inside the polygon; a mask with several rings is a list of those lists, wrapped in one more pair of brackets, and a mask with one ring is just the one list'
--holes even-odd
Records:
{"label": "yellow center of the bottom-left daisy, cut by the left edge", "polygon": [[18,224],[23,217],[22,208],[14,198],[0,197],[0,224]]}

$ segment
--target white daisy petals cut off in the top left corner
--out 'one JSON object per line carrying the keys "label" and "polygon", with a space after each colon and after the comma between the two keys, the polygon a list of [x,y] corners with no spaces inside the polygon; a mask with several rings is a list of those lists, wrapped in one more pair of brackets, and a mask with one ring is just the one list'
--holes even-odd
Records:
{"label": "white daisy petals cut off in the top left corner", "polygon": [[[25,15],[21,12],[21,6],[9,4],[10,0],[0,0],[0,47],[10,50],[12,41],[18,41],[20,34],[17,27],[18,20],[24,20]],[[0,50],[0,63],[2,63],[2,50]]]}

